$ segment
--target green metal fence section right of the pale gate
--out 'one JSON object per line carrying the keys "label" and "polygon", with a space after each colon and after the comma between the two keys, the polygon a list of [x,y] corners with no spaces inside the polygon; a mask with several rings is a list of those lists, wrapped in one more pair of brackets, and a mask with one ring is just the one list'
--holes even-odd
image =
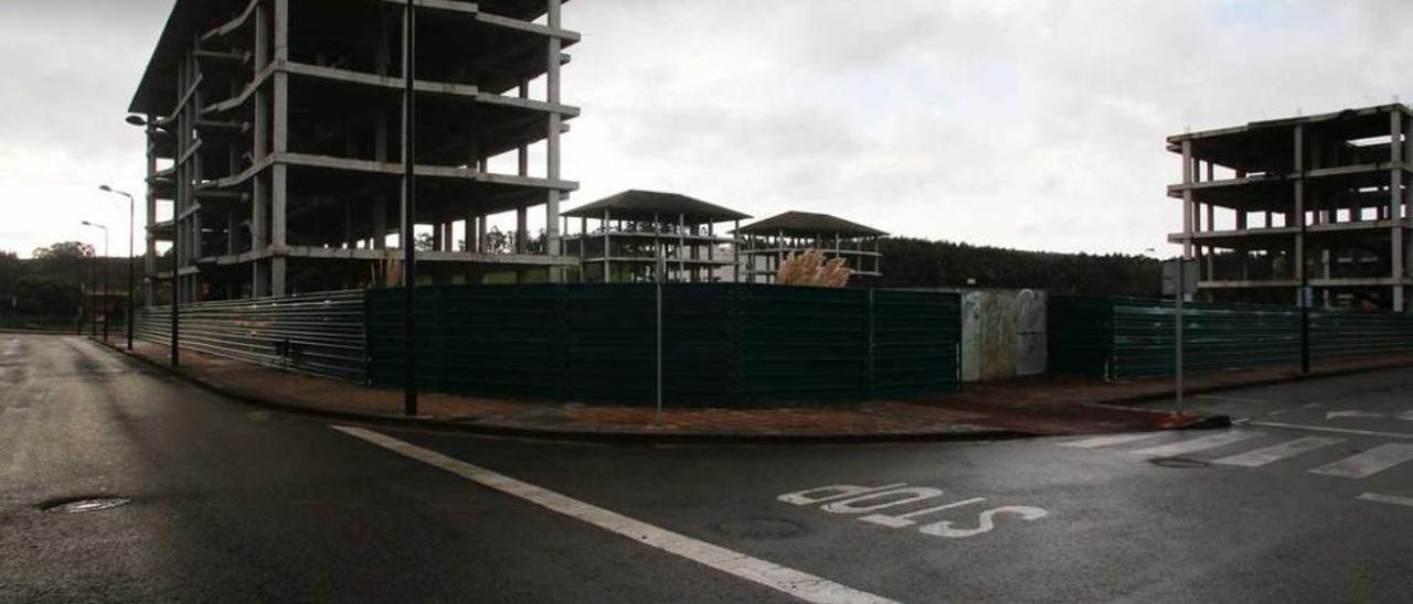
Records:
{"label": "green metal fence section right of the pale gate", "polygon": [[[1174,373],[1173,301],[1053,296],[1050,370],[1128,380]],[[1300,309],[1187,302],[1183,364],[1191,373],[1299,366]],[[1413,316],[1311,310],[1310,358],[1366,358],[1413,353]]]}

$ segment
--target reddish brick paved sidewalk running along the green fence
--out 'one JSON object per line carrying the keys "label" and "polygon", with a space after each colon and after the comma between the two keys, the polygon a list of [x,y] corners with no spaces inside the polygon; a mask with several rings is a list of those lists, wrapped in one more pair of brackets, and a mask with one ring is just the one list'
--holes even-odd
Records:
{"label": "reddish brick paved sidewalk running along the green fence", "polygon": [[[137,343],[134,353],[158,366],[167,347]],[[1321,374],[1413,364],[1413,357],[1325,366]],[[182,350],[182,373],[208,387],[247,399],[315,412],[400,418],[403,392],[367,388]],[[1252,382],[1299,378],[1299,371],[1234,371],[1188,380],[1195,394]],[[547,436],[701,437],[914,437],[978,439],[1023,435],[1089,435],[1178,429],[1204,422],[1194,413],[1122,406],[1171,397],[1170,380],[1102,382],[1037,377],[968,385],[957,395],[911,401],[777,409],[666,409],[658,418],[640,406],[579,405],[422,394],[420,412],[439,425]]]}

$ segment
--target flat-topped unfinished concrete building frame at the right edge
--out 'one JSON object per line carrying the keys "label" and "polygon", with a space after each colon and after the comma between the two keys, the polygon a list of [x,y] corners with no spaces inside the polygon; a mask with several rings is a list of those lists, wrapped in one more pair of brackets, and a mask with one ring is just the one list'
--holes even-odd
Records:
{"label": "flat-topped unfinished concrete building frame at the right edge", "polygon": [[1402,104],[1178,134],[1183,233],[1211,301],[1407,309],[1409,157]]}

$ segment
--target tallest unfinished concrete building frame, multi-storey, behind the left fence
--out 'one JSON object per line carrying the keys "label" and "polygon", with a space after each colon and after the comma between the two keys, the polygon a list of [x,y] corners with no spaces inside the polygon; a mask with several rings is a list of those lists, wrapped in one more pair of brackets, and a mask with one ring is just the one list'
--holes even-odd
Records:
{"label": "tallest unfinished concrete building frame, multi-storey, behind the left fence", "polygon": [[[579,40],[561,1],[417,3],[428,279],[557,279],[578,265],[557,220],[577,188],[560,175],[560,135],[579,113],[560,99],[561,51]],[[129,109],[147,130],[147,274],[170,241],[182,301],[382,279],[394,247],[415,241],[401,224],[406,13],[401,0],[177,1]],[[545,215],[540,237],[530,212]],[[492,222],[514,236],[489,237]]]}

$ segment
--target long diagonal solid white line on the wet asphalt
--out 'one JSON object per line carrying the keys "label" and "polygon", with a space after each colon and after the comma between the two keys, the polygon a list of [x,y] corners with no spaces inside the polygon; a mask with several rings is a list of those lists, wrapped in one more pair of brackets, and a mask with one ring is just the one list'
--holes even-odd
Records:
{"label": "long diagonal solid white line on the wet asphalt", "polygon": [[661,549],[664,552],[685,557],[704,566],[721,570],[783,591],[804,601],[811,603],[892,603],[879,596],[859,591],[852,587],[834,583],[800,570],[752,557],[740,552],[692,539],[667,529],[657,528],[647,522],[636,521],[609,509],[582,502],[579,500],[561,495],[534,484],[521,483],[509,476],[472,466],[466,461],[444,456],[441,453],[406,443],[391,436],[384,436],[373,430],[352,426],[332,426],[335,430],[349,436],[367,440],[393,453],[411,457],[428,466],[434,466],[466,478],[483,487],[495,488],[507,495],[519,497],[543,508],[564,514],[569,518],[591,524],[605,531],[633,539],[639,543]]}

